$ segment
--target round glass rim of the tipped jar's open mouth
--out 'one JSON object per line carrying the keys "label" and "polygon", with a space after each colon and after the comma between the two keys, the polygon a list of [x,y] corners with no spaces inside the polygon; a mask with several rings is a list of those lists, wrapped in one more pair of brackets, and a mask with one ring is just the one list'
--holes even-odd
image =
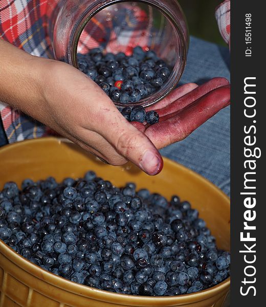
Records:
{"label": "round glass rim of the tipped jar's open mouth", "polygon": [[[78,68],[77,65],[77,48],[78,48],[78,42],[80,39],[80,35],[82,33],[82,31],[84,30],[84,28],[86,27],[87,23],[100,11],[102,11],[103,9],[118,4],[118,3],[125,3],[125,2],[136,2],[136,3],[142,3],[142,4],[146,4],[148,6],[154,7],[157,10],[159,10],[169,21],[170,25],[172,26],[176,38],[178,40],[179,43],[179,51],[180,51],[180,57],[182,57],[181,62],[178,64],[178,61],[175,62],[174,67],[172,68],[172,72],[170,74],[170,77],[168,79],[168,81],[163,85],[164,90],[163,91],[156,91],[153,94],[149,95],[148,97],[144,98],[143,100],[140,100],[136,103],[128,103],[126,106],[135,106],[135,105],[142,105],[144,107],[156,104],[157,102],[159,102],[160,100],[162,100],[163,98],[165,98],[167,95],[169,95],[169,93],[176,87],[176,85],[178,84],[178,82],[180,81],[180,78],[184,72],[185,66],[186,66],[186,62],[187,62],[187,51],[188,51],[188,44],[189,44],[189,35],[187,35],[188,37],[188,42],[187,42],[187,46],[186,46],[186,42],[185,42],[185,35],[182,31],[182,27],[181,24],[179,23],[179,20],[175,19],[173,14],[171,13],[171,10],[169,10],[167,7],[162,7],[162,3],[158,0],[152,0],[152,2],[150,0],[114,0],[114,1],[110,1],[110,2],[105,2],[104,4],[102,4],[100,7],[98,2],[94,2],[92,4],[92,6],[88,6],[87,9],[84,11],[84,13],[82,14],[82,16],[80,16],[76,26],[73,28],[72,33],[71,33],[71,40],[72,41],[72,45],[69,46],[69,63],[71,65],[73,65],[75,68]],[[184,16],[184,20],[186,23],[186,28],[187,27],[187,20],[185,18],[185,15],[183,13],[182,8],[180,7],[178,1],[175,2],[176,6],[178,7],[178,9],[182,12],[183,16]],[[188,31],[188,30],[187,30]],[[160,94],[159,94],[160,92]],[[116,106],[125,106],[124,104],[121,104],[119,102],[115,102],[114,104]]]}

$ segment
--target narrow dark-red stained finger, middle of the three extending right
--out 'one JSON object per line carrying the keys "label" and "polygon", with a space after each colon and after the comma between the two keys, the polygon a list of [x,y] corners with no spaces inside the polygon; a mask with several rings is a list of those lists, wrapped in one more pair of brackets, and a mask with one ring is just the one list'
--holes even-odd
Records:
{"label": "narrow dark-red stained finger, middle of the three extending right", "polygon": [[163,118],[168,114],[172,114],[180,111],[182,108],[186,107],[190,103],[199,99],[200,97],[206,95],[208,92],[217,89],[220,86],[228,85],[229,81],[226,78],[213,78],[210,81],[204,83],[203,85],[197,86],[194,90],[188,92],[178,100],[173,101],[171,104],[158,109],[158,114],[161,117],[161,121],[167,118]]}

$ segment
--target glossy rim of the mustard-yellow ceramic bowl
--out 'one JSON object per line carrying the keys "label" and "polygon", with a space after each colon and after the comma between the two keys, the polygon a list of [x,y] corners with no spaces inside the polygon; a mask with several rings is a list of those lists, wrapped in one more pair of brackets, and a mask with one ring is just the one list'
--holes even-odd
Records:
{"label": "glossy rim of the mustard-yellow ceramic bowl", "polygon": [[[51,138],[51,137],[45,137],[40,139],[33,139],[33,140],[25,140],[14,144],[8,144],[4,147],[0,148],[0,153],[6,150],[10,150],[10,148],[14,148],[17,146],[21,146],[21,144],[27,144],[27,143],[36,143],[36,142],[57,142],[61,143],[64,142],[64,140]],[[95,159],[95,157],[93,157]],[[229,197],[221,191],[218,187],[216,187],[213,183],[202,177],[200,174],[192,171],[191,169],[176,163],[168,158],[163,157],[164,161],[171,165],[178,165],[178,167],[182,168],[183,170],[189,171],[193,173],[194,176],[197,177],[198,180],[203,182],[208,182],[222,196],[228,206],[230,206],[230,199]],[[145,306],[152,306],[154,305],[154,298],[156,298],[156,305],[160,305],[162,303],[187,303],[188,299],[190,303],[197,302],[201,300],[206,300],[210,297],[213,297],[215,295],[220,294],[221,292],[226,292],[229,290],[230,287],[230,276],[222,281],[221,283],[218,283],[216,286],[211,287],[209,289],[191,293],[191,294],[183,294],[183,295],[176,295],[176,296],[140,296],[140,295],[130,295],[130,294],[119,294],[114,293],[110,291],[100,290],[96,288],[92,288],[89,286],[85,286],[83,284],[79,284],[76,282],[73,282],[69,279],[57,276],[51,272],[48,272],[39,266],[33,264],[30,260],[24,258],[23,256],[17,254],[12,248],[10,248],[7,244],[5,244],[2,240],[0,240],[0,254],[3,254],[9,261],[12,261],[15,266],[18,266],[21,270],[26,271],[27,273],[33,275],[34,277],[43,280],[51,286],[54,286],[56,288],[62,289],[64,291],[83,296],[83,297],[90,297],[95,300],[99,301],[105,301],[109,303],[116,303],[116,304],[124,304],[124,305],[136,305],[140,306],[144,303],[145,300]],[[10,274],[10,273],[9,273]],[[12,275],[12,274],[11,274]],[[14,276],[15,277],[15,276]]]}

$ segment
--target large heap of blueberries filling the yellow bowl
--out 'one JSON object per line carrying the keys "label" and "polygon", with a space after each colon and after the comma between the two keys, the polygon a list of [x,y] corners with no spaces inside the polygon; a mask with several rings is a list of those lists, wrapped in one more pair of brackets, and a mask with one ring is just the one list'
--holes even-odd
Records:
{"label": "large heap of blueberries filling the yellow bowl", "polygon": [[187,201],[168,202],[134,183],[84,178],[13,182],[0,192],[0,238],[35,265],[122,294],[173,296],[230,273],[230,253]]}

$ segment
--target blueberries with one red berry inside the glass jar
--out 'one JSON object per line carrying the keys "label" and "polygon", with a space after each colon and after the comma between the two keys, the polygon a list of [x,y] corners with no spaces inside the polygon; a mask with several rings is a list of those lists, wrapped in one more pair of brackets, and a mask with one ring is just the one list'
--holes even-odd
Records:
{"label": "blueberries with one red berry inside the glass jar", "polygon": [[99,48],[77,54],[78,68],[114,101],[136,103],[158,91],[170,76],[167,64],[152,50],[140,46],[131,56],[123,52],[103,54]]}

